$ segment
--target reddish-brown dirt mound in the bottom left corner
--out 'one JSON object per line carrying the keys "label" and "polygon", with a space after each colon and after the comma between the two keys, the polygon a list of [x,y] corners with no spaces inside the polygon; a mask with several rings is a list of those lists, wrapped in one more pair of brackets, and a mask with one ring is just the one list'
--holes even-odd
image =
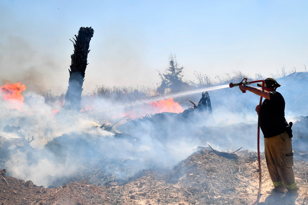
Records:
{"label": "reddish-brown dirt mound in the bottom left corner", "polygon": [[107,188],[71,182],[62,187],[45,189],[36,186],[32,181],[23,181],[5,175],[6,170],[0,170],[0,204],[112,204],[112,199],[106,197]]}

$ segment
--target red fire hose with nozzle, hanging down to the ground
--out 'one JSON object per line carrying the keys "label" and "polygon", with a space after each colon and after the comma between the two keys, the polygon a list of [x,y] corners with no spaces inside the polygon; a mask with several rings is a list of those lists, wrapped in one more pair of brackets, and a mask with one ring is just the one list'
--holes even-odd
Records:
{"label": "red fire hose with nozzle, hanging down to the ground", "polygon": [[[245,80],[245,81],[244,81]],[[244,81],[244,82],[243,82]],[[262,82],[262,89],[264,89],[264,80],[255,80],[255,81],[247,81],[247,78],[244,78],[241,82],[239,83],[232,83],[230,82],[229,86],[232,88],[234,86],[240,86],[240,85],[249,85],[251,83],[256,83],[256,82]],[[243,91],[245,93],[245,90]],[[260,97],[260,103],[259,105],[261,106],[262,103],[262,96]],[[259,124],[259,113],[258,113],[258,164],[259,164],[259,192],[257,195],[257,199],[253,201],[250,205],[256,204],[260,197],[261,197],[261,160],[260,160],[260,124]]]}

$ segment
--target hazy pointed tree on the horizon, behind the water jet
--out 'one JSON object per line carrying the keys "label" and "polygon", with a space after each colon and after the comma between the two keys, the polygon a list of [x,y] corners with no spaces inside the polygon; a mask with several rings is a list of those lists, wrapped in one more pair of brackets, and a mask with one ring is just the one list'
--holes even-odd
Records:
{"label": "hazy pointed tree on the horizon, behind the water jet", "polygon": [[180,64],[176,61],[176,55],[169,55],[169,66],[166,68],[165,72],[162,74],[158,71],[159,76],[161,77],[162,82],[157,88],[157,91],[160,94],[164,93],[165,88],[170,88],[171,93],[180,92],[183,90],[188,90],[190,88],[187,82],[183,82],[183,69],[180,67]]}

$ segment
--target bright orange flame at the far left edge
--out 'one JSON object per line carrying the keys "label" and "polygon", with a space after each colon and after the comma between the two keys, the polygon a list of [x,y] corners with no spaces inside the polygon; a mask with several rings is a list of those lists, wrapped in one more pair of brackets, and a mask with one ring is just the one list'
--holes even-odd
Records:
{"label": "bright orange flame at the far left edge", "polygon": [[17,109],[20,111],[23,103],[22,91],[26,90],[25,84],[17,82],[15,84],[10,84],[6,82],[5,85],[0,87],[0,91],[3,93],[3,99],[11,104],[11,109]]}

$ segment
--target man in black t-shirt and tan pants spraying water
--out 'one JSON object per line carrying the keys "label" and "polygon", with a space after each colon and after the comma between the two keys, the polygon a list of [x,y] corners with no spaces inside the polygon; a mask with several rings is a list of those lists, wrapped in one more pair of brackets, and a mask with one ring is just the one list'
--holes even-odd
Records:
{"label": "man in black t-shirt and tan pants spraying water", "polygon": [[[287,195],[296,195],[299,188],[292,168],[292,132],[285,119],[285,100],[282,94],[276,91],[281,84],[274,78],[266,78],[264,82],[264,90],[245,85],[240,85],[239,88],[241,91],[248,90],[265,98],[261,106],[257,105],[256,111],[264,135],[266,165],[274,184],[274,189],[267,193],[287,191]],[[257,86],[262,87],[262,83],[258,83]]]}

